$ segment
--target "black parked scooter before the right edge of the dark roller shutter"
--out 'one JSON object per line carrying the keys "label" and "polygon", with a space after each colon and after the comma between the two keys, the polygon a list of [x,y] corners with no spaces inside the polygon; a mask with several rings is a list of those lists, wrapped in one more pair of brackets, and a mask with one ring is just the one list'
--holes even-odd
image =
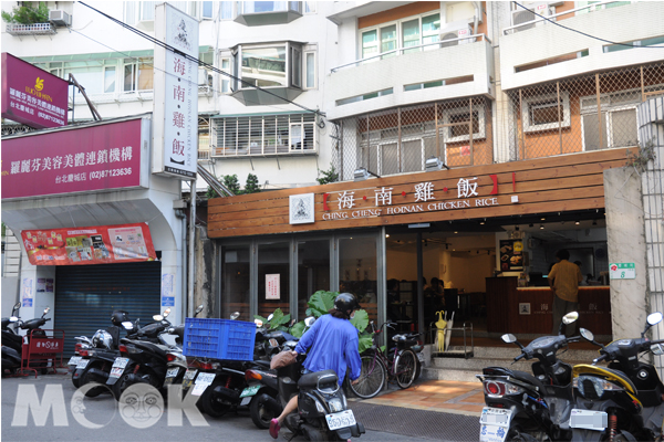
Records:
{"label": "black parked scooter before the right edge of the dark roller shutter", "polygon": [[122,393],[134,383],[149,383],[159,389],[164,386],[168,366],[167,352],[173,347],[167,346],[162,334],[170,328],[166,319],[170,308],[162,315],[153,316],[154,323],[148,324],[138,332],[138,336],[156,336],[160,344],[139,339],[121,339],[120,356],[114,360],[106,385],[111,386],[113,396],[120,400]]}

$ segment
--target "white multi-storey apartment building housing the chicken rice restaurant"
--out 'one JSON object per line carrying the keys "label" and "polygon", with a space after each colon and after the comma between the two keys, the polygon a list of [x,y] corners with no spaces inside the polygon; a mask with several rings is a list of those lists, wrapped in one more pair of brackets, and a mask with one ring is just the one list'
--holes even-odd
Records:
{"label": "white multi-storey apartment building housing the chicken rice restaurant", "polygon": [[[346,290],[372,317],[426,330],[422,277],[435,276],[487,333],[548,333],[536,286],[560,248],[592,280],[581,309],[595,334],[634,334],[646,305],[664,308],[661,155],[622,168],[627,149],[661,152],[642,129],[662,125],[645,107],[664,90],[664,3],[172,4],[199,20],[216,67],[199,69],[199,164],[270,190],[209,201],[216,314],[302,317],[315,290]],[[80,3],[49,6],[71,22],[8,25],[3,50],[73,74],[103,118],[151,112],[153,44]],[[94,6],[154,35],[155,2]],[[70,120],[92,119],[73,97]],[[339,182],[318,186],[332,168]],[[620,206],[623,182],[640,208]],[[635,278],[609,284],[610,263]],[[610,314],[625,303],[643,308]]]}

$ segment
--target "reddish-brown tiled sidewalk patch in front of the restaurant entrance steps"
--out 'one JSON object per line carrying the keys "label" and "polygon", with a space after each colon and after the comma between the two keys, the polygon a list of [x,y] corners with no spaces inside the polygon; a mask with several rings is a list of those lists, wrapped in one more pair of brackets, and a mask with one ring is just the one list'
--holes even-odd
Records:
{"label": "reddish-brown tiled sidewalk patch in front of the restaurant entrance steps", "polygon": [[485,406],[480,382],[426,380],[405,390],[394,388],[363,402],[477,417]]}

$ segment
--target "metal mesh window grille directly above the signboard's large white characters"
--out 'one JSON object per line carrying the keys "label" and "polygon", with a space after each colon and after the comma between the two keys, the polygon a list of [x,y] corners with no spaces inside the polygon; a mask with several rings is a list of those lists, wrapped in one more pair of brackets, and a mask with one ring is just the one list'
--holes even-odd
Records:
{"label": "metal mesh window grille directly above the signboard's large white characters", "polygon": [[365,167],[380,176],[425,170],[427,158],[448,166],[494,161],[491,102],[485,97],[429,103],[335,122],[332,164],[340,180]]}

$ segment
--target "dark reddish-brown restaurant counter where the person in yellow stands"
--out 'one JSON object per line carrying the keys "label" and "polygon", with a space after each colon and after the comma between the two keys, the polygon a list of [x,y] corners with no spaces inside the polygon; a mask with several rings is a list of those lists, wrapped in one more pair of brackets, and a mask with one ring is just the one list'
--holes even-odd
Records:
{"label": "dark reddish-brown restaurant counter where the person in yellow stands", "polygon": [[[553,292],[549,287],[517,287],[518,278],[487,277],[487,332],[551,334]],[[579,287],[578,327],[611,335],[609,286]]]}

